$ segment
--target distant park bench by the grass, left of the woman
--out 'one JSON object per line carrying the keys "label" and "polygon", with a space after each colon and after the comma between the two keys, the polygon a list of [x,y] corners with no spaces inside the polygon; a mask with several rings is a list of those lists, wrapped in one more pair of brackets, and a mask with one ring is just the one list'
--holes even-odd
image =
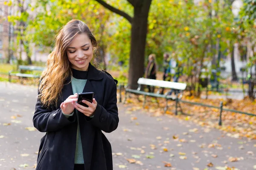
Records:
{"label": "distant park bench by the grass, left of the woman", "polygon": [[[18,73],[17,71],[9,71],[9,82],[11,82],[11,77],[16,76],[19,78],[34,78],[38,79],[40,78],[40,73],[35,73],[34,71],[44,71],[44,67],[39,67],[39,66],[32,66],[32,65],[19,65]],[[23,83],[21,79],[21,83]]]}

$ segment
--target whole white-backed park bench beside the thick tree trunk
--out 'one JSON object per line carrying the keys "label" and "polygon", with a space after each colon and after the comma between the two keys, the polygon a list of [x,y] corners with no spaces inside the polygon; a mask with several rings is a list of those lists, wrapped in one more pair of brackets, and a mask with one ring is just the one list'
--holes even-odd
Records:
{"label": "whole white-backed park bench beside the thick tree trunk", "polygon": [[[165,112],[168,109],[168,100],[175,100],[176,101],[176,107],[177,107],[179,100],[183,96],[182,92],[186,89],[186,84],[185,83],[169,82],[169,81],[155,80],[155,79],[139,78],[137,83],[138,83],[138,88],[135,89],[135,90],[132,89],[132,88],[129,88],[129,85],[127,85],[125,87],[124,103],[127,99],[127,94],[128,93],[144,95],[143,108],[145,106],[146,96],[151,96],[151,97],[156,97],[156,98],[164,98],[164,99],[166,99],[166,107],[164,108]],[[141,91],[142,85],[150,85],[150,86],[158,87],[159,90],[157,91],[157,93]],[[175,92],[175,96],[168,95],[170,91],[166,92],[165,94],[160,94],[160,89],[161,88],[169,88],[170,91]],[[159,102],[158,102],[158,105],[159,105]]]}

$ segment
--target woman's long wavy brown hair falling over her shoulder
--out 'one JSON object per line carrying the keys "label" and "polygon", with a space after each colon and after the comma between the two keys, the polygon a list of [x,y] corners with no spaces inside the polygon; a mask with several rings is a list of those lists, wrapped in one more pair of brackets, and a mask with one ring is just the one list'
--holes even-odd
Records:
{"label": "woman's long wavy brown hair falling over her shoulder", "polygon": [[72,76],[71,63],[67,58],[67,47],[77,34],[84,33],[90,38],[93,51],[95,51],[96,39],[88,26],[80,20],[71,20],[56,35],[54,49],[48,56],[46,69],[42,72],[40,79],[38,98],[44,106],[57,104],[65,81]]}

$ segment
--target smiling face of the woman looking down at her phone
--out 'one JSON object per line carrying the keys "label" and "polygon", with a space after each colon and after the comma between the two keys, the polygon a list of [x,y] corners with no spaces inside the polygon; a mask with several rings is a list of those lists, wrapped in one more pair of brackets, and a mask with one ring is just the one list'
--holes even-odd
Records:
{"label": "smiling face of the woman looking down at her phone", "polygon": [[71,68],[88,71],[89,63],[93,58],[93,46],[87,34],[78,34],[67,47],[67,58]]}

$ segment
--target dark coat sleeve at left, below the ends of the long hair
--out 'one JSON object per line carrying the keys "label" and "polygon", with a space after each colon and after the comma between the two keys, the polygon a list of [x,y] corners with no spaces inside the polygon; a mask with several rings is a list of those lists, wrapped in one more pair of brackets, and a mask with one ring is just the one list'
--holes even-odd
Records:
{"label": "dark coat sleeve at left, below the ends of the long hair", "polygon": [[68,118],[62,113],[61,108],[52,110],[42,105],[41,100],[38,98],[35,105],[35,113],[33,116],[34,127],[40,132],[57,131],[75,122],[76,117],[69,116]]}

